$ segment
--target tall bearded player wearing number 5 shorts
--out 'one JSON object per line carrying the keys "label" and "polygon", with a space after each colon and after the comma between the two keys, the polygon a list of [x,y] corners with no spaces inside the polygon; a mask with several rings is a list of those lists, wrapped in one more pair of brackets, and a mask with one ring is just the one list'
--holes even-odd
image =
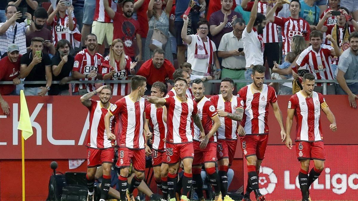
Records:
{"label": "tall bearded player wearing number 5 shorts", "polygon": [[277,103],[275,89],[267,84],[265,80],[265,67],[255,65],[251,74],[252,83],[243,87],[237,96],[243,99],[244,115],[241,124],[238,126],[241,148],[247,162],[248,181],[246,193],[242,201],[250,200],[250,193],[253,191],[257,201],[265,200],[258,188],[258,173],[262,160],[265,156],[267,142],[269,141],[269,104],[274,109],[274,114],[281,128],[282,142],[286,139],[286,132],[282,114]]}

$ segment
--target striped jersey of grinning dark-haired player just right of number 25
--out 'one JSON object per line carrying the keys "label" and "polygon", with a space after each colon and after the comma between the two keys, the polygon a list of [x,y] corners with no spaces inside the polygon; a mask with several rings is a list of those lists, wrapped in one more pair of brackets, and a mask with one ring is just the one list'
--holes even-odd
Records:
{"label": "striped jersey of grinning dark-haired player just right of number 25", "polygon": [[[195,101],[195,100],[194,100]],[[198,115],[202,121],[205,135],[209,133],[213,127],[213,117],[217,116],[216,108],[209,98],[203,96],[199,102],[197,102]],[[200,129],[194,124],[194,140],[200,140]],[[209,139],[210,142],[216,142],[216,133]]]}

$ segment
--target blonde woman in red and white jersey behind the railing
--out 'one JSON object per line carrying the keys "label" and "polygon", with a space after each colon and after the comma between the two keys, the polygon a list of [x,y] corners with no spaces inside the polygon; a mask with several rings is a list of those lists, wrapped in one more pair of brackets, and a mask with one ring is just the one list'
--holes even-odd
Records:
{"label": "blonde woman in red and white jersey behind the railing", "polygon": [[[98,72],[102,73],[103,80],[126,80],[129,73],[135,75],[134,67],[137,62],[124,52],[123,41],[114,39],[110,54],[105,58]],[[113,95],[128,95],[131,92],[130,83],[108,83],[113,88]]]}

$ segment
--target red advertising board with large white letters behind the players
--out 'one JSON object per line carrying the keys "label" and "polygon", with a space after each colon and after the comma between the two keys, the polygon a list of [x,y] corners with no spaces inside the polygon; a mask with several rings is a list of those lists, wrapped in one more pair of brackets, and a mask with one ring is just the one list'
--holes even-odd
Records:
{"label": "red advertising board with large white letters behind the players", "polygon": [[[98,98],[98,97],[96,97]],[[120,97],[113,97],[114,103]],[[347,96],[326,95],[326,102],[335,114],[338,131],[329,129],[329,122],[321,113],[325,144],[358,144],[358,111],[349,107]],[[20,97],[5,96],[10,115],[0,110],[0,159],[20,159],[20,131],[17,130],[20,114]],[[286,122],[289,96],[279,96],[279,106]],[[34,135],[25,141],[26,159],[86,158],[89,128],[88,109],[82,106],[79,96],[28,96],[26,97]],[[270,107],[269,144],[282,144],[280,127]],[[291,132],[294,138],[295,123]],[[240,143],[238,143],[240,144]]]}

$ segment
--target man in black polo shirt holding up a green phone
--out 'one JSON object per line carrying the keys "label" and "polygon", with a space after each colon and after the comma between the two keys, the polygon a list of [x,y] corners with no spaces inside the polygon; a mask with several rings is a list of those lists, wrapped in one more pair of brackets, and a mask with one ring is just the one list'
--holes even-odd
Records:
{"label": "man in black polo shirt holding up a green phone", "polygon": [[48,95],[52,83],[51,59],[43,53],[44,39],[31,39],[31,52],[24,54],[20,60],[20,78],[26,81],[47,81],[46,84],[25,84],[25,95]]}

